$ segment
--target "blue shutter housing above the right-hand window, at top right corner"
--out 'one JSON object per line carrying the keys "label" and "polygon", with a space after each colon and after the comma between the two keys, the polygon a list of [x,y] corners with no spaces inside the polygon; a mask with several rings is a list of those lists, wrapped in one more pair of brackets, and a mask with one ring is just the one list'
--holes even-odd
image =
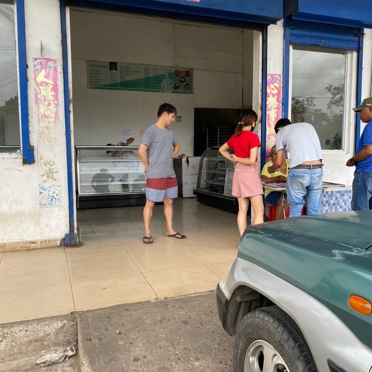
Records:
{"label": "blue shutter housing above the right-hand window, at top right corner", "polygon": [[284,16],[332,25],[372,28],[371,0],[284,0]]}

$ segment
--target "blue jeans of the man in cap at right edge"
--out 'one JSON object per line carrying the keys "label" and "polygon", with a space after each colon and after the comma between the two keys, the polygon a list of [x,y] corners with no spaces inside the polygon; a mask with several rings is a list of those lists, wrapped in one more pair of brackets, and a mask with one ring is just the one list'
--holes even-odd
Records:
{"label": "blue jeans of the man in cap at right edge", "polygon": [[354,173],[353,180],[353,198],[351,209],[353,211],[362,211],[372,209],[372,172]]}

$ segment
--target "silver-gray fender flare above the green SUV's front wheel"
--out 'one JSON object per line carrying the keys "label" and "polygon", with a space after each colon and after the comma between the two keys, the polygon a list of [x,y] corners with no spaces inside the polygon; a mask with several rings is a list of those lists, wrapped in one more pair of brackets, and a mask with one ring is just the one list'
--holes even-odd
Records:
{"label": "silver-gray fender flare above the green SUV's front wheel", "polygon": [[329,371],[327,359],[347,372],[372,369],[372,350],[317,299],[262,267],[237,258],[219,288],[230,299],[242,285],[264,295],[292,317],[308,343],[318,371]]}

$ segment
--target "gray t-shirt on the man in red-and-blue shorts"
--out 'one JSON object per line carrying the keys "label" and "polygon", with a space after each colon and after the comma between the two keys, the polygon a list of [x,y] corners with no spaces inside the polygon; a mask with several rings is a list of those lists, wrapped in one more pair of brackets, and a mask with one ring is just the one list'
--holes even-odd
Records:
{"label": "gray t-shirt on the man in red-and-blue shorts", "polygon": [[176,177],[173,169],[173,146],[178,143],[173,131],[157,125],[149,126],[142,136],[141,144],[147,145],[147,178]]}

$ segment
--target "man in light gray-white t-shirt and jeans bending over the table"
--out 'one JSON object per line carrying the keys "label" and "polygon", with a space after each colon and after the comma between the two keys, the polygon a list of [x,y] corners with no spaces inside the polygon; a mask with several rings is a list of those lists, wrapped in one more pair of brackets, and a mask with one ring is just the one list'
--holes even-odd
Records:
{"label": "man in light gray-white t-shirt and jeans bending over the table", "polygon": [[283,163],[284,151],[289,152],[290,170],[286,183],[289,217],[301,216],[306,197],[307,214],[319,214],[323,198],[323,164],[319,137],[309,123],[291,124],[280,119],[275,125],[276,159],[269,173]]}

